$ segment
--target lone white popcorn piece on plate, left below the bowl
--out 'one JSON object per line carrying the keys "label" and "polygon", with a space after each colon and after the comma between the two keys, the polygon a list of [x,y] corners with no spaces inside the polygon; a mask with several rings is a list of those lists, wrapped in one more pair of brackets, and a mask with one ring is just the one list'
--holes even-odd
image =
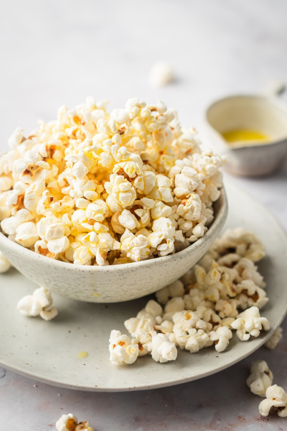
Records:
{"label": "lone white popcorn piece on plate, left below the bowl", "polygon": [[19,300],[17,309],[24,316],[40,315],[44,320],[51,320],[56,317],[58,310],[52,307],[51,293],[45,287],[34,290],[33,295],[27,295]]}

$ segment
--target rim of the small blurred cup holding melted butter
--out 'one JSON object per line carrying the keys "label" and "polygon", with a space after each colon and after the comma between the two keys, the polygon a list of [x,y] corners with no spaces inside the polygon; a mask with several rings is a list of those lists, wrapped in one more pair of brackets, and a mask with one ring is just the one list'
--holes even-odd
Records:
{"label": "rim of the small blurred cup holding melted butter", "polygon": [[262,100],[265,100],[268,103],[270,103],[270,105],[276,106],[277,108],[281,109],[286,114],[286,122],[287,122],[287,105],[284,102],[279,100],[278,97],[276,97],[276,96],[270,96],[270,95],[265,95],[265,94],[256,94],[256,93],[254,93],[254,94],[252,94],[252,93],[229,94],[228,96],[220,97],[219,99],[214,99],[204,109],[204,122],[206,123],[206,125],[209,128],[211,128],[220,137],[222,144],[224,144],[226,149],[228,149],[228,150],[241,150],[242,148],[244,148],[244,149],[260,148],[261,149],[262,147],[270,147],[272,145],[285,143],[285,141],[287,141],[287,134],[284,138],[282,138],[280,140],[267,142],[265,144],[249,144],[249,145],[230,146],[225,142],[225,139],[222,137],[222,134],[210,124],[209,119],[207,118],[208,111],[214,105],[216,105],[219,102],[223,102],[224,100],[228,100],[228,99],[248,99],[248,98],[249,99],[262,99]]}

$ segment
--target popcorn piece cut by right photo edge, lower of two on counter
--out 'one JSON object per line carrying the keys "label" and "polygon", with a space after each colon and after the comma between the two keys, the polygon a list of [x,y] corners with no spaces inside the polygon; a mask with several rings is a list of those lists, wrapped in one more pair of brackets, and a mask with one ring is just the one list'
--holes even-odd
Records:
{"label": "popcorn piece cut by right photo edge, lower of two on counter", "polygon": [[259,412],[262,416],[268,416],[269,410],[273,406],[278,416],[285,418],[287,416],[287,394],[284,389],[277,384],[269,386],[266,389],[266,398],[259,404]]}

